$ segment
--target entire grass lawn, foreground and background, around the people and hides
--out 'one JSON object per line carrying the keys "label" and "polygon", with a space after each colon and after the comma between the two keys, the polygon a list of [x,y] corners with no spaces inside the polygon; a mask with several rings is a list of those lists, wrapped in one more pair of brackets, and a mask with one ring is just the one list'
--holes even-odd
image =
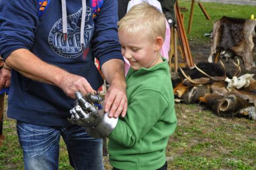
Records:
{"label": "entire grass lawn, foreground and background, around the people and hides", "polygon": [[[180,6],[190,9],[188,1]],[[249,19],[256,15],[255,6],[227,5],[202,2],[213,21],[223,15]],[[185,14],[187,30],[188,12]],[[188,39],[209,43],[204,33],[212,30],[212,22],[205,19],[195,4],[193,25]],[[256,169],[256,121],[246,118],[225,118],[202,110],[197,105],[175,104],[178,127],[166,148],[169,169]],[[15,120],[4,117],[3,134],[6,139],[0,147],[0,169],[24,169],[22,151],[15,130]],[[59,169],[69,166],[66,146],[60,143]],[[111,169],[109,164],[106,169]]]}

